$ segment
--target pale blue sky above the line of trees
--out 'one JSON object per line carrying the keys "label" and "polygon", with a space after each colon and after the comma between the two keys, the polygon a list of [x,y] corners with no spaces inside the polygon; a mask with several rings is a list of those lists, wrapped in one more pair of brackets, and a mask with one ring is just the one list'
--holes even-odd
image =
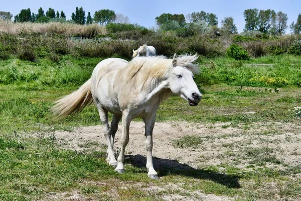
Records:
{"label": "pale blue sky above the line of trees", "polygon": [[[4,3],[5,2],[5,3]],[[44,13],[48,8],[53,8],[59,13],[63,10],[67,19],[71,18],[72,12],[76,7],[83,7],[86,15],[88,12],[93,14],[101,9],[110,9],[115,13],[121,13],[129,17],[131,23],[137,23],[146,28],[156,26],[155,18],[163,13],[171,14],[188,14],[192,12],[205,11],[214,13],[218,17],[218,25],[225,17],[233,17],[238,32],[242,32],[244,28],[243,11],[246,9],[257,8],[259,10],[272,9],[275,12],[282,11],[287,14],[290,25],[292,21],[296,21],[297,16],[301,13],[300,0],[227,0],[227,1],[197,1],[197,0],[98,0],[98,1],[79,1],[79,0],[52,0],[52,1],[5,1],[1,0],[1,11],[11,12],[14,16],[19,14],[22,9],[30,8],[31,12],[38,13],[40,7]],[[14,18],[14,17],[13,17]],[[290,32],[289,29],[286,33]]]}

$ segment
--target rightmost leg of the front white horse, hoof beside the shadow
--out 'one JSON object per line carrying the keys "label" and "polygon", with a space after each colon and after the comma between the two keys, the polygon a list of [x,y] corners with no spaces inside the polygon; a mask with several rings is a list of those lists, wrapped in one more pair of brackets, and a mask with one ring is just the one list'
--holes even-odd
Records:
{"label": "rightmost leg of the front white horse, hoof beside the shadow", "polygon": [[146,168],[147,168],[147,176],[152,179],[158,179],[158,174],[154,169],[153,164],[153,130],[156,121],[156,114],[143,119],[145,123],[145,146],[146,146]]}

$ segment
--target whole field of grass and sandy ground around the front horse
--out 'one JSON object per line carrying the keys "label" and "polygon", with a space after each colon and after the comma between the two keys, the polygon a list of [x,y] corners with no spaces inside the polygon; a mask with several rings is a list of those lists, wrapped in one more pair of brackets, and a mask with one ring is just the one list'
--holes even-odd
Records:
{"label": "whole field of grass and sandy ground around the front horse", "polygon": [[[126,172],[118,174],[105,162],[93,105],[61,121],[49,112],[102,59],[2,61],[0,199],[301,200],[301,123],[294,110],[301,105],[300,59],[201,58],[199,106],[172,96],[159,109],[153,151],[159,180],[146,175],[140,120],[131,124]],[[118,130],[116,155],[119,137]]]}

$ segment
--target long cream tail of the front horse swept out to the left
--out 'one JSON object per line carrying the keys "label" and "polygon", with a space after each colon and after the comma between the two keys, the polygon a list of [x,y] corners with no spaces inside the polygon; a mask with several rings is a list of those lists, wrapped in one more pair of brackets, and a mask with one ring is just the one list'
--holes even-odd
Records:
{"label": "long cream tail of the front horse swept out to the left", "polygon": [[89,79],[73,93],[56,100],[56,102],[54,102],[55,106],[51,108],[51,111],[57,119],[61,119],[70,114],[81,112],[84,107],[92,102],[91,79]]}

